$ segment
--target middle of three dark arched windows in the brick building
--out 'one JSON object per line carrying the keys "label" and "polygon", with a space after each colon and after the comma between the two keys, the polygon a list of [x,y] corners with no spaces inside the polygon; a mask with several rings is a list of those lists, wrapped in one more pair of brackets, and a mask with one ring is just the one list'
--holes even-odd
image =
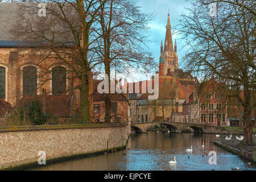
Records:
{"label": "middle of three dark arched windows in the brick building", "polygon": [[32,66],[23,68],[23,96],[35,96],[37,94],[37,69]]}

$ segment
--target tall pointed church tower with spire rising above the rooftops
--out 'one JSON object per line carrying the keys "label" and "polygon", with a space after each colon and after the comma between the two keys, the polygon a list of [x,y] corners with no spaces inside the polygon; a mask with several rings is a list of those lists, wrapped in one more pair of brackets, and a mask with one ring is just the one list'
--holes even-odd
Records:
{"label": "tall pointed church tower with spire rising above the rooftops", "polygon": [[175,46],[172,44],[172,32],[170,23],[170,14],[168,14],[167,26],[166,26],[166,39],[163,43],[161,41],[160,57],[159,57],[159,75],[167,75],[168,69],[170,72],[174,72],[178,67],[177,57],[177,45],[175,40]]}

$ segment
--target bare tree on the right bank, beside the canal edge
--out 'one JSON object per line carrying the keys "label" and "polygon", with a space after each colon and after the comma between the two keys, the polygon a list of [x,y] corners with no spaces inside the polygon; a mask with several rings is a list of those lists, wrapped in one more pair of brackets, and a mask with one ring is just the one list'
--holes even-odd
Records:
{"label": "bare tree on the right bank, beside the canal edge", "polygon": [[218,1],[215,16],[209,13],[211,2],[192,1],[189,14],[181,15],[178,30],[190,47],[184,63],[205,80],[214,76],[217,81],[226,83],[227,99],[235,98],[242,105],[245,139],[241,144],[253,145],[255,3]]}

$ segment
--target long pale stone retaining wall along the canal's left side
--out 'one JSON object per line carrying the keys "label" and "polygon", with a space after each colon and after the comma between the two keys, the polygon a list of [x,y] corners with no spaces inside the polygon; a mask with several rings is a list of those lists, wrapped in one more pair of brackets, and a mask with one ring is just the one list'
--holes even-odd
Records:
{"label": "long pale stone retaining wall along the canal's left side", "polygon": [[126,124],[2,128],[0,169],[36,164],[39,151],[46,152],[47,163],[49,159],[121,148],[129,131]]}

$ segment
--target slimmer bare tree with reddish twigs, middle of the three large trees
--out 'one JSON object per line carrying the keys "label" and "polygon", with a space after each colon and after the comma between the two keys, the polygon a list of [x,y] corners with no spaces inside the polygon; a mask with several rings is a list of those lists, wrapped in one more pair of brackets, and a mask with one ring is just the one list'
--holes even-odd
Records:
{"label": "slimmer bare tree with reddish twigs, middle of the three large trees", "polygon": [[[101,2],[99,16],[96,17],[98,27],[94,29],[100,36],[100,39],[97,39],[99,49],[96,49],[96,54],[104,64],[109,85],[110,69],[113,67],[115,72],[121,73],[129,73],[131,68],[136,68],[137,71],[143,70],[143,72],[149,72],[150,69],[155,68],[155,62],[150,53],[143,49],[148,41],[143,33],[148,30],[151,18],[152,15],[142,13],[134,1]],[[106,122],[110,122],[112,94],[104,96],[105,119]]]}

